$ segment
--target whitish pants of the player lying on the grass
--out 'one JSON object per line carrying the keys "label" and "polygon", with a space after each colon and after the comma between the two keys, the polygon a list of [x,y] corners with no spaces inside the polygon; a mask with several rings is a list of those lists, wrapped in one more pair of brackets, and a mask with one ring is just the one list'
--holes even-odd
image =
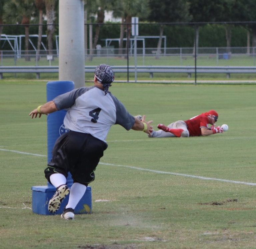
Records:
{"label": "whitish pants of the player lying on the grass", "polygon": [[[171,129],[183,129],[184,131],[181,133],[181,137],[189,137],[187,124],[182,120],[175,121],[169,124],[167,127]],[[165,132],[163,130],[154,130],[151,132],[150,137],[175,137],[175,135],[171,132]]]}

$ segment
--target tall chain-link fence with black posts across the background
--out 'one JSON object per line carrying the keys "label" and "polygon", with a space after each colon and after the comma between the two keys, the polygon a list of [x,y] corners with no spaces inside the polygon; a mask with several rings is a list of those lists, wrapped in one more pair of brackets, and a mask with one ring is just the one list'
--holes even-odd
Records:
{"label": "tall chain-link fence with black posts across the background", "polygon": [[[214,26],[213,29],[209,25]],[[6,25],[8,26],[8,25]],[[152,31],[152,27],[154,27]],[[159,24],[160,26],[160,24]],[[97,45],[93,48],[93,39],[98,25],[85,25],[85,70],[86,79],[91,79],[93,68],[106,63],[115,68],[116,81],[255,81],[256,48],[252,44],[250,29],[244,25],[230,26],[234,35],[229,43],[241,46],[223,46],[226,25],[208,24],[201,27],[196,44],[195,29],[191,25],[178,26],[165,24],[162,39],[157,35],[157,24],[139,25],[140,35],[130,36],[130,25],[123,25],[125,36],[120,39],[120,24],[102,24],[99,29]],[[207,26],[207,25],[206,25]],[[11,27],[9,27],[10,30]],[[90,32],[88,31],[90,28]],[[188,32],[188,28],[190,32]],[[15,29],[17,30],[17,29]],[[108,32],[111,30],[111,32]],[[151,30],[150,32],[148,30]],[[3,32],[5,27],[3,28]],[[93,32],[92,32],[93,31]],[[215,32],[215,33],[214,33]],[[217,32],[217,33],[216,33]],[[188,35],[189,33],[189,35]],[[92,35],[90,35],[92,34]],[[210,36],[210,37],[208,37]],[[217,38],[216,38],[217,37]],[[2,34],[0,41],[0,74],[1,77],[20,76],[15,73],[19,67],[58,67],[58,35],[54,37],[54,49],[47,49],[47,36],[43,35],[40,50],[37,50],[38,36],[29,36],[29,49],[25,50],[25,36]],[[172,44],[182,43],[192,46],[171,47]],[[205,47],[211,41],[211,47]],[[237,41],[238,40],[238,41]],[[136,50],[135,50],[136,49]],[[11,67],[12,72],[7,68]],[[43,71],[46,77],[57,77],[54,71]],[[25,70],[24,70],[25,73]],[[28,73],[26,71],[26,73]],[[33,73],[33,72],[31,72]]]}

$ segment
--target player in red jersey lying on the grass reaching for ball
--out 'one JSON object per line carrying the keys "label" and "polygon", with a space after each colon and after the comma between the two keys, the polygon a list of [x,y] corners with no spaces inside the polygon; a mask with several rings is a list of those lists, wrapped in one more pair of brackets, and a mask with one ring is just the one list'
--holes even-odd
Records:
{"label": "player in red jersey lying on the grass reaching for ball", "polygon": [[[189,137],[189,136],[209,136],[215,133],[222,133],[220,126],[215,126],[218,120],[218,113],[214,110],[202,113],[189,120],[178,120],[165,126],[158,124],[159,130],[153,130],[149,137]],[[212,124],[208,128],[208,124]]]}

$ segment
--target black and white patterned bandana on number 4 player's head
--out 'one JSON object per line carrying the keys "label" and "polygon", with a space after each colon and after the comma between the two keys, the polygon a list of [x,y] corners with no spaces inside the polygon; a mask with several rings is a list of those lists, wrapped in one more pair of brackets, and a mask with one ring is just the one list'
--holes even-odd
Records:
{"label": "black and white patterned bandana on number 4 player's head", "polygon": [[100,64],[95,69],[95,77],[103,85],[105,95],[108,93],[111,83],[114,81],[114,72],[109,65]]}

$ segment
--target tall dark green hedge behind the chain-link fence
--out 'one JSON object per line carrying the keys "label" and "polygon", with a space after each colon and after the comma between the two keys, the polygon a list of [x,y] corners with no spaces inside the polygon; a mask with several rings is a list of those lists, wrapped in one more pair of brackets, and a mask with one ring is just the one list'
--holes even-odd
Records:
{"label": "tall dark green hedge behind the chain-link fence", "polygon": [[[233,25],[231,47],[246,47],[247,46],[247,30],[240,25]],[[95,34],[96,25],[93,26],[93,35]],[[126,30],[126,26],[125,26]],[[160,26],[158,24],[143,23],[139,25],[140,36],[159,36]],[[4,26],[3,34],[20,35],[24,34],[23,26]],[[37,34],[38,27],[30,26],[30,34]],[[58,33],[58,26],[56,26],[56,34]],[[46,34],[46,26],[43,26],[43,34]],[[107,23],[101,25],[98,44],[105,46],[106,38],[119,38],[120,24]],[[166,36],[167,47],[193,47],[195,30],[192,25],[165,25],[164,36]],[[124,33],[126,37],[126,32]],[[89,43],[89,26],[88,26],[88,43]],[[157,47],[158,39],[145,39],[146,48]],[[118,42],[111,44],[118,48]],[[24,43],[23,43],[24,46]],[[55,46],[55,43],[54,43]],[[88,44],[89,46],[89,44]],[[138,42],[138,48],[142,47],[142,43]],[[220,24],[207,24],[200,27],[199,32],[199,47],[226,47],[225,26]],[[4,41],[0,44],[1,50],[8,50],[10,46]],[[22,48],[24,49],[24,48]],[[32,49],[32,48],[31,48]]]}

